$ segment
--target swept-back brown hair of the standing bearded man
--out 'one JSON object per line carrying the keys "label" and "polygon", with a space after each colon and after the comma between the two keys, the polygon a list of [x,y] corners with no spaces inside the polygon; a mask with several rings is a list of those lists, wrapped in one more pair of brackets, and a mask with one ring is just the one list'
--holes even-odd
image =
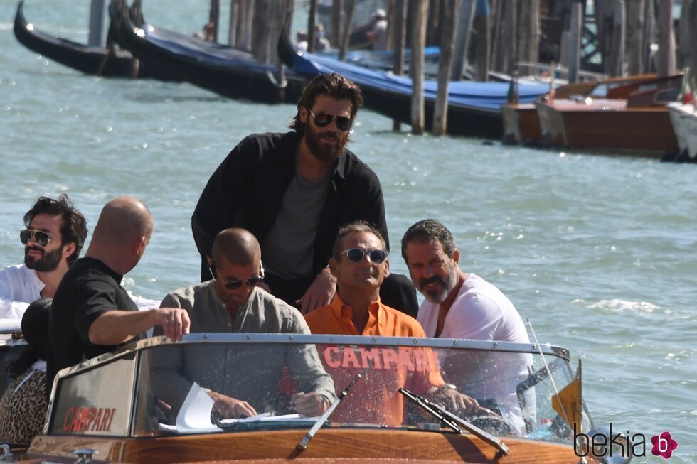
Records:
{"label": "swept-back brown hair of the standing bearded man", "polygon": [[351,100],[351,121],[356,118],[358,108],[363,106],[361,88],[346,77],[332,72],[316,76],[302,90],[298,100],[298,112],[290,122],[290,128],[298,134],[304,134],[305,123],[300,120],[300,108],[312,109],[318,95],[327,95],[338,100]]}

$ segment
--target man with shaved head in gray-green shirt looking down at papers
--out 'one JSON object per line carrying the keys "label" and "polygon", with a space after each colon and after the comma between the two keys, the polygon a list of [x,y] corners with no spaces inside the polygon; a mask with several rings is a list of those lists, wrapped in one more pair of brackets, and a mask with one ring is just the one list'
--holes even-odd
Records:
{"label": "man with shaved head in gray-green shirt looking down at papers", "polygon": [[[216,279],[173,291],[162,301],[186,309],[191,333],[310,333],[297,309],[257,286],[263,277],[261,251],[250,232],[223,230],[212,254],[208,264]],[[314,345],[165,345],[153,350],[150,362],[154,393],[173,415],[193,382],[210,390],[213,411],[222,418],[277,411],[284,367],[299,392],[291,404],[300,414],[322,414],[336,397]]]}

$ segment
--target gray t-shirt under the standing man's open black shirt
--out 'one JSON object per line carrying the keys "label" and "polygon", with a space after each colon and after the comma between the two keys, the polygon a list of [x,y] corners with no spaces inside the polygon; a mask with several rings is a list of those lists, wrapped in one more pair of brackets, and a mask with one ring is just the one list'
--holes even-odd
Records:
{"label": "gray t-shirt under the standing man's open black shirt", "polygon": [[283,197],[281,211],[262,244],[267,272],[288,280],[312,274],[314,238],[328,185],[329,173],[316,180],[295,174]]}

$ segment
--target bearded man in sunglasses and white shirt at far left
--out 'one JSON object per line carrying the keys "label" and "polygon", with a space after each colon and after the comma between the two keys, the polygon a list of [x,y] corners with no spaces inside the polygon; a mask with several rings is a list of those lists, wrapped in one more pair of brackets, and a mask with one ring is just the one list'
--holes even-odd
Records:
{"label": "bearded man in sunglasses and white shirt at far left", "polygon": [[0,318],[21,318],[29,303],[53,298],[87,238],[85,217],[68,195],[41,197],[24,215],[24,264],[0,271]]}

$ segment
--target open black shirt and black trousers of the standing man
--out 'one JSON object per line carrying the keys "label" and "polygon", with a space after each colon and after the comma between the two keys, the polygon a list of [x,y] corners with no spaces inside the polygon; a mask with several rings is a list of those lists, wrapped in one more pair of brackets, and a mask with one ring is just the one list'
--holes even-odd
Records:
{"label": "open black shirt and black trousers of the standing man", "polygon": [[[302,135],[252,134],[245,137],[208,180],[191,217],[193,239],[201,254],[201,281],[213,279],[206,263],[213,239],[228,227],[242,227],[264,243],[278,216],[288,186],[296,173],[296,152]],[[390,242],[383,190],[378,176],[350,150],[336,162],[314,239],[312,274],[287,281],[267,273],[271,292],[290,305],[300,298],[326,267],[339,228],[356,220],[373,225]],[[262,250],[263,259],[264,250]],[[385,297],[387,298],[385,300]],[[408,279],[390,274],[381,287],[383,303],[415,316],[416,289]]]}

